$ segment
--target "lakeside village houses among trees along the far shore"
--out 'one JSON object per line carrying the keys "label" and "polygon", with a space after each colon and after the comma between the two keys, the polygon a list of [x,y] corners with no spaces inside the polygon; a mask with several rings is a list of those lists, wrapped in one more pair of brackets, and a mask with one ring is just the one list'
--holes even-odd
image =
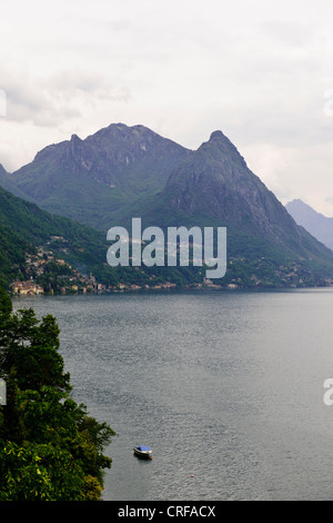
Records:
{"label": "lakeside village houses among trees along the far shore", "polygon": [[[23,273],[21,272],[20,280],[10,284],[10,292],[16,296],[38,296],[38,295],[53,295],[53,294],[102,294],[102,293],[123,293],[134,290],[158,290],[158,289],[174,289],[175,283],[161,282],[157,276],[151,275],[148,277],[149,282],[144,285],[135,285],[129,283],[118,283],[117,285],[104,285],[97,282],[97,278],[90,274],[89,276],[82,275],[79,270],[73,268],[68,262],[61,258],[61,251],[68,253],[68,249],[56,249],[57,254],[52,250],[53,243],[67,243],[61,236],[52,236],[51,240],[44,246],[38,247],[36,254],[26,254],[26,266]],[[54,244],[53,244],[54,245]],[[243,258],[231,258],[230,269],[235,273],[229,278],[223,286],[215,284],[213,280],[202,277],[201,283],[192,283],[186,288],[191,289],[239,289],[239,288],[260,288],[262,286],[269,287],[307,287],[307,286],[325,286],[332,287],[333,280],[323,278],[321,280],[313,280],[307,270],[300,267],[285,267],[280,266],[274,270],[276,278],[274,285],[274,277],[272,274],[264,276],[263,267],[265,267],[265,258],[256,260],[255,267],[252,267],[253,273],[250,278],[242,274],[242,266],[245,263]],[[234,269],[232,269],[234,267]],[[238,267],[238,268],[236,268]],[[241,268],[241,270],[240,270]],[[256,273],[256,274],[255,274]],[[279,283],[278,283],[279,282]],[[282,284],[282,285],[281,285]]]}

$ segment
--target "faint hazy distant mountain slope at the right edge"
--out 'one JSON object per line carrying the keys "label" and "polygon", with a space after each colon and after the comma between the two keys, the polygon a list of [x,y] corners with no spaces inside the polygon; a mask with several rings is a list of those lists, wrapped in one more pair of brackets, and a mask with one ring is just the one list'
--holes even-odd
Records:
{"label": "faint hazy distant mountain slope at the right edge", "polygon": [[301,199],[294,199],[286,204],[286,210],[296,224],[333,250],[333,218],[316,213],[310,205]]}

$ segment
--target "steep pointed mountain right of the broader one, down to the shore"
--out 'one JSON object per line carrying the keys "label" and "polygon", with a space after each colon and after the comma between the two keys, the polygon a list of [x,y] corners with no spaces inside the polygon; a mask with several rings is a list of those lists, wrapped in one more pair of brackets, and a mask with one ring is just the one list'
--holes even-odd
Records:
{"label": "steep pointed mountain right of the broader one, down to the shore", "polygon": [[144,224],[228,228],[229,257],[332,275],[333,254],[297,226],[272,191],[246,166],[222,131],[214,131],[170,175],[159,198],[142,211]]}

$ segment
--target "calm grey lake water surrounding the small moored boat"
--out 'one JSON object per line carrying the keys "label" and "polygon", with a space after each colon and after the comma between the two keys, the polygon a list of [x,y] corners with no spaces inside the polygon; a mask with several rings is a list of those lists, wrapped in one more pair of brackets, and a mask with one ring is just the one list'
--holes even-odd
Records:
{"label": "calm grey lake water surrounding the small moored boat", "polygon": [[333,500],[333,289],[13,304],[57,317],[73,398],[118,433],[104,500]]}

